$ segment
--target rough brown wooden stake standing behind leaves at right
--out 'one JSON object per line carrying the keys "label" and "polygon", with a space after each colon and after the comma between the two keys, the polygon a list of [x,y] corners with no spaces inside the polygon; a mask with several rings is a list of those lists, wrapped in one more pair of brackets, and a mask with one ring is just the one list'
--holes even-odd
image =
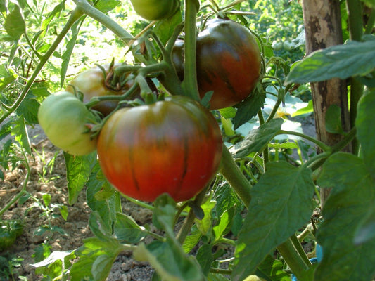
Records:
{"label": "rough brown wooden stake standing behind leaves at right", "polygon": [[[303,21],[307,55],[322,48],[343,44],[339,0],[303,0]],[[311,91],[317,138],[327,145],[334,145],[341,139],[341,135],[326,131],[326,110],[331,105],[341,107],[343,129],[350,130],[346,82],[330,79],[312,83]],[[322,206],[328,195],[329,190],[322,190]]]}

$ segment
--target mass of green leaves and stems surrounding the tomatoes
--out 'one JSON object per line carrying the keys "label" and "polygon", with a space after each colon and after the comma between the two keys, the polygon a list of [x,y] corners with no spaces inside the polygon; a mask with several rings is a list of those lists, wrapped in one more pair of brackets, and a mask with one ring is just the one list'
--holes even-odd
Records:
{"label": "mass of green leaves and stems surrounding the tomatoes", "polygon": [[[4,170],[15,169],[20,163],[28,167],[33,151],[27,127],[37,124],[42,100],[94,63],[109,63],[113,58],[126,61],[133,67],[136,85],[142,91],[150,90],[144,85],[144,78],[150,77],[161,97],[167,92],[191,96],[196,87],[195,73],[186,72],[189,75],[181,83],[170,60],[177,37],[188,38],[185,46],[189,50],[195,46],[194,37],[189,37],[196,27],[193,1],[180,1],[181,8],[171,18],[151,24],[136,15],[126,1],[74,2],[0,1],[4,18],[0,30],[1,179]],[[342,2],[346,39],[351,31],[347,24],[350,13]],[[362,2],[374,7],[374,1]],[[375,40],[371,26],[365,27],[362,41],[347,41],[303,58],[305,38],[298,1],[201,1],[196,18],[199,28],[215,17],[250,27],[263,60],[255,91],[234,107],[212,112],[227,145],[219,171],[222,175],[188,202],[174,202],[168,195],[152,204],[129,198],[153,211],[155,229],[122,212],[124,199],[103,175],[96,152],[85,156],[64,153],[68,202],[74,204],[86,190],[91,209],[88,224],[94,237],[84,240],[80,249],[51,252],[53,233],[65,234],[51,220],[61,217],[66,221],[68,207],[51,202],[49,194],[35,198],[25,192],[28,178],[13,201],[23,204],[31,198],[34,204],[30,209],[40,209],[46,218],[34,231],[35,235],[46,234],[47,239],[35,249],[33,264],[45,280],[106,280],[122,251],[132,251],[134,259],[148,261],[155,269],[153,280],[222,281],[229,280],[228,276],[244,280],[257,275],[267,281],[286,281],[291,280],[291,272],[308,281],[374,278]],[[357,20],[362,26],[362,18]],[[193,60],[190,58],[190,66]],[[125,84],[126,80],[119,78],[124,73],[116,72],[118,81],[113,84]],[[303,134],[300,124],[289,116],[304,117],[312,112],[306,83],[335,77],[354,77],[367,87],[358,103],[351,104],[357,109],[352,131],[343,129],[344,108],[333,105],[326,112],[326,131],[342,136],[329,147]],[[210,92],[202,103],[208,103],[209,98]],[[283,130],[289,124],[297,126],[293,131]],[[95,130],[100,126],[96,124],[92,133],[98,133]],[[13,138],[6,140],[9,137]],[[360,143],[360,153],[338,152],[353,138]],[[311,152],[314,146],[324,153]],[[298,157],[287,156],[292,150]],[[46,169],[53,169],[57,153],[44,163],[42,178]],[[321,188],[332,188],[318,219],[322,223],[313,221],[314,231],[304,230],[313,209],[322,207]],[[2,208],[0,214],[10,207]],[[308,232],[308,238],[298,241],[295,235],[300,231]],[[301,247],[303,241],[322,245],[322,261],[310,264]],[[0,277],[13,277],[20,260],[0,256],[0,261]]]}

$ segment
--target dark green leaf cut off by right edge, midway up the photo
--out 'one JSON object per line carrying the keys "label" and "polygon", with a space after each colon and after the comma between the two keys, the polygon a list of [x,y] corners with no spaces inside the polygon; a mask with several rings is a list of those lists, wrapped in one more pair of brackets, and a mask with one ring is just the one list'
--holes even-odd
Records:
{"label": "dark green leaf cut off by right edge, midway up the photo", "polygon": [[371,172],[371,176],[375,178],[375,131],[374,115],[375,108],[375,89],[365,93],[358,102],[358,113],[355,119],[355,126],[357,127],[357,138],[361,143],[361,150],[364,164]]}

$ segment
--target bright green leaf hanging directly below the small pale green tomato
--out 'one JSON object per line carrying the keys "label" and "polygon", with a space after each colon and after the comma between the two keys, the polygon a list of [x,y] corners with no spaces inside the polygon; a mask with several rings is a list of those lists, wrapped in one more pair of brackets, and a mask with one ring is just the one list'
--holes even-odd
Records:
{"label": "bright green leaf hanging directly below the small pale green tomato", "polygon": [[87,182],[92,166],[96,162],[96,152],[89,155],[73,156],[64,152],[66,178],[68,181],[69,204],[77,202],[78,195]]}

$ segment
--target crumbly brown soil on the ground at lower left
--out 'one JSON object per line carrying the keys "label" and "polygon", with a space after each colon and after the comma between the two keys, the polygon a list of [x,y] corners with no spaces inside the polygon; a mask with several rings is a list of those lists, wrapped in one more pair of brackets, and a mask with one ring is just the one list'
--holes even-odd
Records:
{"label": "crumbly brown soil on the ground at lower left", "polygon": [[[65,161],[62,152],[59,152],[49,142],[39,127],[30,129],[29,133],[34,152],[29,157],[31,173],[27,182],[27,192],[32,197],[24,204],[13,204],[3,216],[3,219],[21,219],[24,224],[23,235],[18,237],[13,247],[0,252],[0,256],[11,254],[23,259],[22,266],[13,270],[15,273],[13,280],[17,280],[18,276],[25,276],[27,280],[42,280],[42,275],[37,275],[34,266],[32,266],[32,263],[35,262],[32,255],[43,242],[48,242],[51,245],[51,251],[69,251],[81,247],[84,238],[93,236],[88,226],[91,209],[87,206],[84,190],[75,204],[68,204]],[[2,143],[0,146],[2,147]],[[54,158],[55,154],[57,156],[50,172],[49,168],[46,168],[46,164]],[[26,175],[25,166],[22,164],[15,167],[13,171],[5,171],[2,167],[1,169],[4,172],[4,181],[0,179],[0,209],[22,190]],[[51,204],[64,204],[68,207],[66,221],[61,217],[58,209],[54,209],[52,213],[58,216],[48,221],[46,216],[42,216],[43,211],[40,207],[33,207],[38,201],[42,203],[44,194],[51,195]],[[123,200],[122,207],[125,214],[131,215],[141,225],[151,223],[151,212],[147,209],[125,200]],[[66,234],[49,231],[43,235],[34,234],[37,228],[49,222],[51,226],[63,228]],[[107,280],[146,281],[151,280],[152,273],[148,263],[134,261],[132,253],[129,252],[118,256]]]}

